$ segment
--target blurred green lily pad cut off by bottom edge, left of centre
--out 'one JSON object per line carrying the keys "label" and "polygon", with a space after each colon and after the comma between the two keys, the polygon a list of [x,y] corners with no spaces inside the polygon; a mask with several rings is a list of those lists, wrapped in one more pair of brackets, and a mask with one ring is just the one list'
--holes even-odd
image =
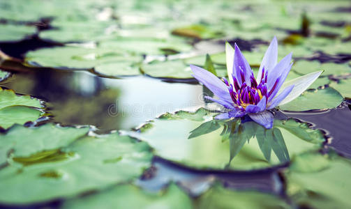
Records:
{"label": "blurred green lily pad cut off by bottom edge, left of centre", "polygon": [[98,194],[66,201],[62,208],[193,208],[191,198],[175,184],[158,193],[134,185],[117,185]]}

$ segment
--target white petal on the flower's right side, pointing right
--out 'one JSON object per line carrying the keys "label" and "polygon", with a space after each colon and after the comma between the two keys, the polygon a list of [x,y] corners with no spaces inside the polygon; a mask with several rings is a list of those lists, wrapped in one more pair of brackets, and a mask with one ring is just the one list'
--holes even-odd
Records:
{"label": "white petal on the flower's right side, pointing right", "polygon": [[283,101],[281,101],[278,105],[286,104],[287,102],[290,102],[295,98],[297,98],[301,93],[303,93],[308,88],[308,86],[311,86],[311,84],[315,82],[316,79],[318,79],[318,77],[322,72],[323,70],[317,71],[317,72],[311,72],[307,75],[298,77],[296,79],[291,79],[290,81],[285,82],[281,87],[282,89],[285,90],[285,86],[290,86],[290,85],[294,85],[294,88],[292,88],[292,91],[290,92],[290,94],[287,95],[287,97],[283,99]]}

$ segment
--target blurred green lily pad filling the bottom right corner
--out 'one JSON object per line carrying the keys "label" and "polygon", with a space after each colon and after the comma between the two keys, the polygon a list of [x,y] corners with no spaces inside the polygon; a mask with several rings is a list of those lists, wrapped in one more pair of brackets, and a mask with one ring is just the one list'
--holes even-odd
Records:
{"label": "blurred green lily pad filling the bottom right corner", "polygon": [[320,153],[300,157],[285,172],[288,196],[308,208],[350,208],[350,160]]}

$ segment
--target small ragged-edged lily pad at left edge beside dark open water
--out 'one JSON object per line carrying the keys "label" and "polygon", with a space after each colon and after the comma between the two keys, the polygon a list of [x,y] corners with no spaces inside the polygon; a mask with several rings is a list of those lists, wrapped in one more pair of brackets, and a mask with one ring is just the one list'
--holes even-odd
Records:
{"label": "small ragged-edged lily pad at left edge beside dark open water", "polygon": [[0,127],[7,129],[15,123],[36,121],[43,114],[40,108],[40,100],[0,88]]}

